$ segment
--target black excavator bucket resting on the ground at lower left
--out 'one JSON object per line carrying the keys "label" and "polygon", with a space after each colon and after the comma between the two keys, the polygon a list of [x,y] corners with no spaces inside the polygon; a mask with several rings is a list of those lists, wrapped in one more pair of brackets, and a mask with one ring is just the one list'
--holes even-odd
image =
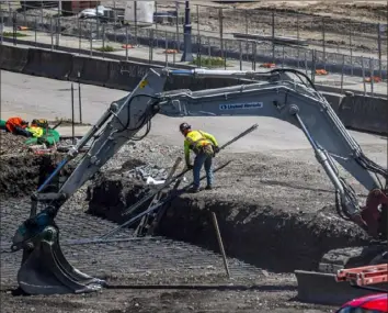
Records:
{"label": "black excavator bucket resting on the ground at lower left", "polygon": [[18,282],[27,294],[87,293],[105,286],[67,261],[59,246],[59,230],[54,226],[43,231],[32,249],[24,249]]}

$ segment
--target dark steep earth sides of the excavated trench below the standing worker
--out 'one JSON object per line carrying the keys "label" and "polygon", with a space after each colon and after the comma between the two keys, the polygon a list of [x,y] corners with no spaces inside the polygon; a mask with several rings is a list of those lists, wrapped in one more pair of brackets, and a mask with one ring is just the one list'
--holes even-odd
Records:
{"label": "dark steep earth sides of the excavated trench below the standing worker", "polygon": [[[2,159],[0,195],[25,197],[36,190],[56,161],[56,157],[48,156]],[[119,170],[96,175],[87,191],[88,213],[119,224],[132,217],[124,219],[122,211],[151,190],[125,175],[139,165],[144,161],[132,160]],[[158,235],[218,251],[213,211],[227,255],[274,272],[317,269],[326,251],[366,243],[361,231],[339,220],[331,206],[317,208],[312,213],[287,209],[286,204],[275,208],[261,205],[260,201],[217,199],[216,191],[183,194],[169,204]]]}

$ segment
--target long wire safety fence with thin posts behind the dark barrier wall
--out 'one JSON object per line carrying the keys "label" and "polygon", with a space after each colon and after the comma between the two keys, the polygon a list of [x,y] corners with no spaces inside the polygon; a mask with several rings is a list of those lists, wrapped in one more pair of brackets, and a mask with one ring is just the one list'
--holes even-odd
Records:
{"label": "long wire safety fence with thin posts behind the dark barrier wall", "polygon": [[[27,27],[32,41],[48,41],[53,48],[59,46],[88,48],[91,56],[98,49],[107,53],[125,51],[125,56],[128,56],[133,54],[132,48],[146,47],[149,49],[148,56],[142,55],[142,58],[146,62],[153,62],[161,59],[160,51],[156,51],[161,48],[166,51],[163,55],[166,62],[175,64],[180,62],[184,49],[184,34],[178,29],[171,31],[171,27],[170,30],[144,29],[136,25],[80,20],[77,16],[45,18],[14,11],[1,11],[1,20],[15,33],[18,29]],[[12,34],[9,33],[8,36],[12,37]],[[275,64],[301,69],[308,72],[312,80],[321,72],[338,74],[341,75],[341,85],[344,83],[343,76],[363,77],[363,81],[375,80],[375,82],[387,79],[387,62],[378,58],[311,49],[301,45],[289,46],[275,42],[237,40],[226,35],[193,34],[191,38],[194,63],[202,66],[213,66],[216,63],[218,67],[255,70],[259,63]],[[168,51],[171,55],[168,55]]]}

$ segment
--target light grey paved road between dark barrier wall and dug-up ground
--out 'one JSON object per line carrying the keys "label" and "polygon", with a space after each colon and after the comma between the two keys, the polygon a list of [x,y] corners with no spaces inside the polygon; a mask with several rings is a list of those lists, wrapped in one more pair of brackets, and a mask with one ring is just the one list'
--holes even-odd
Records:
{"label": "light grey paved road between dark barrier wall and dug-up ground", "polygon": [[[21,115],[34,118],[71,118],[71,82],[34,77],[1,70],[1,119]],[[75,83],[76,119],[78,119],[78,91]],[[107,105],[127,92],[90,85],[81,86],[83,122],[95,123]],[[194,127],[217,135],[221,143],[233,137],[254,123],[260,127],[232,146],[233,152],[299,150],[310,149],[303,133],[295,126],[270,118],[167,118],[157,115],[152,120],[150,137],[161,143],[182,144],[178,126],[187,121]],[[386,164],[387,139],[376,135],[351,132],[361,145],[379,147],[376,156]],[[374,149],[375,150],[375,149]],[[373,150],[373,153],[374,153]],[[275,152],[274,152],[275,153]]]}

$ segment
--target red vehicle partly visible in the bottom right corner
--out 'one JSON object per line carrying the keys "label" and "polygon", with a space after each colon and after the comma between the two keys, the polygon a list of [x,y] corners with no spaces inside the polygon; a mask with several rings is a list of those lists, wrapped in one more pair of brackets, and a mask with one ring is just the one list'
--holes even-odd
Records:
{"label": "red vehicle partly visible in the bottom right corner", "polygon": [[377,293],[354,299],[343,304],[335,313],[387,313],[388,293]]}

